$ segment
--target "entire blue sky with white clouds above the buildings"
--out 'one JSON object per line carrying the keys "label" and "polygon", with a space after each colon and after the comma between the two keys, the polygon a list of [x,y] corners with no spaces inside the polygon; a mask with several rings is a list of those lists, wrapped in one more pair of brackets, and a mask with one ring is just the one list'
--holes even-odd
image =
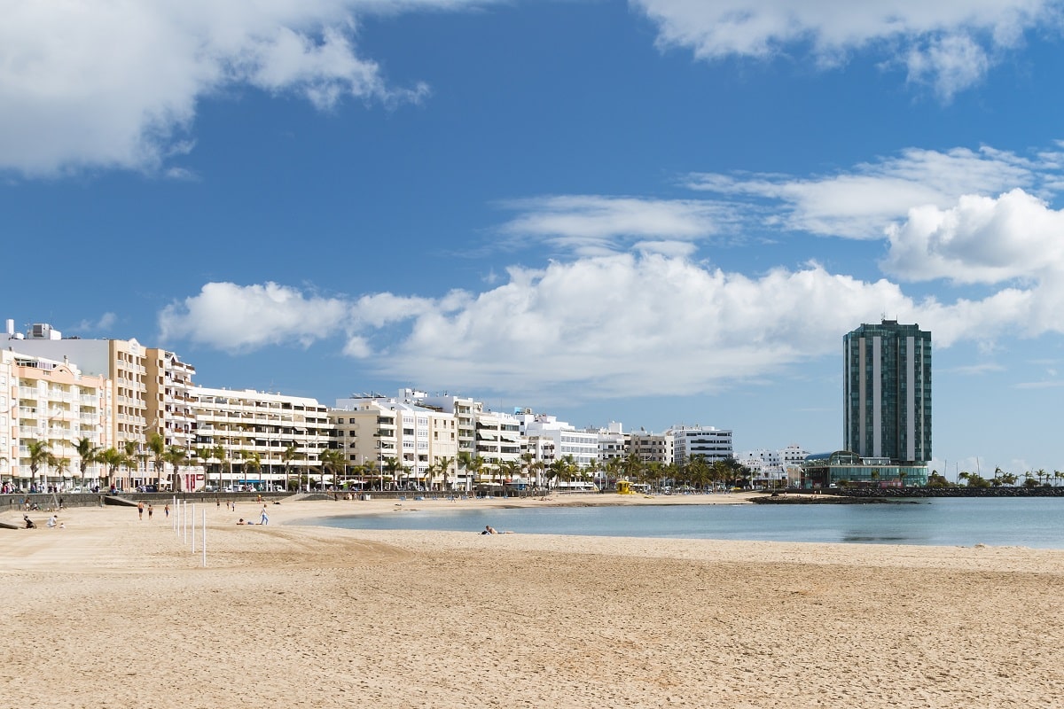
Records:
{"label": "entire blue sky with white clouds above the buildings", "polygon": [[842,444],[934,339],[948,471],[1061,468],[1061,2],[16,0],[5,307],[205,386]]}

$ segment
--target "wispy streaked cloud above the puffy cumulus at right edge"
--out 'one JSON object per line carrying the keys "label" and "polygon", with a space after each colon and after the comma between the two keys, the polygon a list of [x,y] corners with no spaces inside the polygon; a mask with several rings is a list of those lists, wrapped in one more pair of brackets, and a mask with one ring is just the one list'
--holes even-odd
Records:
{"label": "wispy streaked cloud above the puffy cumulus at right edge", "polygon": [[[1055,157],[1035,161],[984,147],[946,152],[910,148],[847,172],[795,178],[781,174],[695,173],[687,186],[774,205],[767,223],[855,239],[881,239],[886,226],[924,205],[946,208],[965,195],[998,195],[1014,187],[1046,189]],[[737,213],[738,210],[735,209]],[[765,219],[763,213],[751,213]]]}

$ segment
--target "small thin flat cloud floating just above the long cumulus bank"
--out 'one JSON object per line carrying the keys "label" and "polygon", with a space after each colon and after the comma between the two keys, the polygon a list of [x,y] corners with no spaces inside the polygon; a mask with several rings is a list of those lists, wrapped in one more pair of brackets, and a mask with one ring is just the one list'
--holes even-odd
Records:
{"label": "small thin flat cloud floating just above the long cumulus bank", "polygon": [[725,206],[709,200],[570,195],[515,200],[503,206],[520,212],[501,226],[504,234],[542,238],[581,256],[615,253],[641,240],[702,239],[733,219]]}

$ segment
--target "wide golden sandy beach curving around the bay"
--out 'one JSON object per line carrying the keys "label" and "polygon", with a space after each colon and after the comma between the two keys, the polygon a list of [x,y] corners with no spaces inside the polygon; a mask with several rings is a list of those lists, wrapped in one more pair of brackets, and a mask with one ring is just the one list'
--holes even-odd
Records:
{"label": "wide golden sandy beach curving around the bay", "polygon": [[205,568],[157,507],[0,529],[3,705],[1064,706],[1064,552],[286,524],[395,501],[236,525],[260,508],[197,506]]}

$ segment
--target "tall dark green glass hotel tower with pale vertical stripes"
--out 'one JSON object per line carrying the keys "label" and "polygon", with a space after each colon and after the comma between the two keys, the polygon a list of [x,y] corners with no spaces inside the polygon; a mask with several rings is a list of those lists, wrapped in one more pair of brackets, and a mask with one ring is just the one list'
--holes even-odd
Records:
{"label": "tall dark green glass hotel tower with pale vertical stripes", "polygon": [[895,465],[931,459],[931,333],[884,320],[843,338],[847,451]]}

